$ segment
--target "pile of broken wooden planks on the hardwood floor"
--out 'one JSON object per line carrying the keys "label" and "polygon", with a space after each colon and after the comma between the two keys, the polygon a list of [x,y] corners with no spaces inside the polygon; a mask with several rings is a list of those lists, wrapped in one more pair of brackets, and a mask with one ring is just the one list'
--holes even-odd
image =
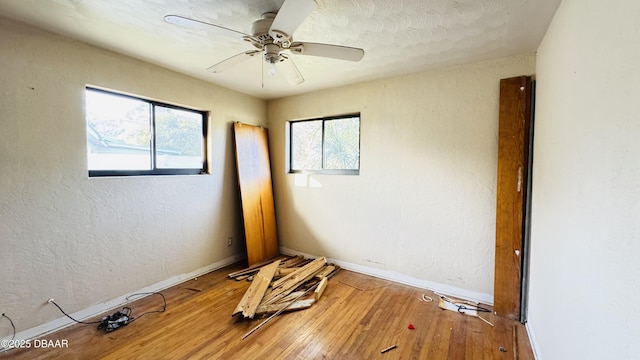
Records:
{"label": "pile of broken wooden planks on the hardwood floor", "polygon": [[253,319],[255,315],[307,309],[320,299],[327,280],[338,270],[324,257],[279,256],[231,273],[231,279],[251,281],[232,316]]}

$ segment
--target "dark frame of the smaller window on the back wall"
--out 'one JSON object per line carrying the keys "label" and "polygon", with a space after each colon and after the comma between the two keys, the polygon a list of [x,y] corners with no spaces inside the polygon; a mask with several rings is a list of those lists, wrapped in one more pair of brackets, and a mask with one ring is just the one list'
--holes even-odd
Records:
{"label": "dark frame of the smaller window on the back wall", "polygon": [[[322,133],[321,133],[321,156],[322,156],[322,166],[324,167],[325,163],[325,154],[324,154],[324,134],[325,134],[325,123],[327,121],[332,120],[341,120],[348,118],[358,118],[358,168],[357,169],[314,169],[314,170],[296,170],[292,167],[292,154],[293,154],[293,141],[291,138],[291,126],[295,123],[307,122],[307,121],[322,121]],[[286,123],[285,128],[285,140],[286,140],[286,152],[285,152],[285,163],[286,163],[286,173],[288,174],[308,174],[308,175],[360,175],[360,161],[361,161],[361,138],[362,138],[362,117],[359,112],[357,113],[348,113],[342,115],[321,117],[321,118],[312,118],[312,119],[300,119],[300,120],[289,120]]]}

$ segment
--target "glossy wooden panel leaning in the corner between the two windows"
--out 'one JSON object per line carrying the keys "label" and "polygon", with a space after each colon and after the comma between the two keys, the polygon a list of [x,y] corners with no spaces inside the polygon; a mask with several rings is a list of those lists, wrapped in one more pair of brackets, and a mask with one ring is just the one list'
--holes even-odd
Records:
{"label": "glossy wooden panel leaning in the corner between the two windows", "polygon": [[249,265],[279,254],[268,131],[233,124]]}

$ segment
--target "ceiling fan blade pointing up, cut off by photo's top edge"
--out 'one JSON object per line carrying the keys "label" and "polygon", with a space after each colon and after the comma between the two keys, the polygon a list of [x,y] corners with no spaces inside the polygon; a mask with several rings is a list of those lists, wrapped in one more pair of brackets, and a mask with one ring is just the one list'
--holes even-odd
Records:
{"label": "ceiling fan blade pointing up, cut off by photo's top edge", "polygon": [[269,29],[274,42],[291,41],[293,33],[315,7],[315,0],[285,0]]}

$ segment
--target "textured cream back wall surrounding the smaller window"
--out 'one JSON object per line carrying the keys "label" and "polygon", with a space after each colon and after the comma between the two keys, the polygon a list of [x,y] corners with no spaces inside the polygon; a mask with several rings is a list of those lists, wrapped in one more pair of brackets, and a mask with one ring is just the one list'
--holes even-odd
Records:
{"label": "textured cream back wall surrounding the smaller window", "polygon": [[[272,100],[281,245],[493,298],[498,95],[534,56]],[[287,120],[361,113],[359,176],[285,174]]]}

